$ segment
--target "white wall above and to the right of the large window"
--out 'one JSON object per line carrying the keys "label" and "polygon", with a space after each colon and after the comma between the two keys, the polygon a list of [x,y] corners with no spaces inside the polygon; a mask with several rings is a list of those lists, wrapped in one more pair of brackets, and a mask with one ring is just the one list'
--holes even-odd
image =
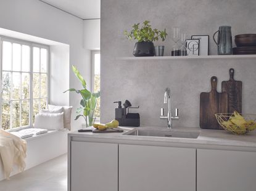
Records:
{"label": "white wall above and to the right of the large window", "polygon": [[[91,84],[90,70],[88,69],[90,68],[90,58],[88,51],[83,49],[83,20],[38,0],[1,0],[0,28],[70,45],[68,87],[81,88],[71,69],[71,65],[75,64],[81,74],[85,76],[89,88],[89,84]],[[68,83],[68,81],[64,80],[64,83]],[[80,103],[80,96],[70,93],[68,102],[74,108],[72,114],[72,119],[74,119],[75,109]],[[73,128],[80,128],[82,122],[82,119],[72,120]]]}

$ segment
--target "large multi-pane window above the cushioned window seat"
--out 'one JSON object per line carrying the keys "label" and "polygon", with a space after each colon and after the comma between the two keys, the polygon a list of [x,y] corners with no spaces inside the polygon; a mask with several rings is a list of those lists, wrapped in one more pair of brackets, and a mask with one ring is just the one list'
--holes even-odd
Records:
{"label": "large multi-pane window above the cushioned window seat", "polygon": [[5,38],[1,45],[1,128],[29,127],[47,105],[49,47]]}

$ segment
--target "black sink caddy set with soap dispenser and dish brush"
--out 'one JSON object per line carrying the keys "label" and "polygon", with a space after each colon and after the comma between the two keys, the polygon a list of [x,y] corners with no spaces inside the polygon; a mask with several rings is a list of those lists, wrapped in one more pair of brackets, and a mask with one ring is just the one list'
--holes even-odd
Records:
{"label": "black sink caddy set with soap dispenser and dish brush", "polygon": [[[131,107],[130,101],[127,99],[122,107],[121,101],[115,101],[114,103],[118,103],[118,107],[115,108],[115,120],[118,120],[119,126],[123,127],[139,127],[140,118],[138,113],[130,113],[129,109],[131,108],[139,108]],[[126,113],[126,109],[128,112]]]}

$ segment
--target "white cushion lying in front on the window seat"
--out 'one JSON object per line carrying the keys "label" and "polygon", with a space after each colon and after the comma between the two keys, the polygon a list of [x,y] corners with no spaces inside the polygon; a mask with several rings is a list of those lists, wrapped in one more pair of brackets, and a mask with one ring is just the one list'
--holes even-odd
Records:
{"label": "white cushion lying in front on the window seat", "polygon": [[59,114],[36,114],[34,127],[45,130],[61,130],[64,128],[64,112]]}

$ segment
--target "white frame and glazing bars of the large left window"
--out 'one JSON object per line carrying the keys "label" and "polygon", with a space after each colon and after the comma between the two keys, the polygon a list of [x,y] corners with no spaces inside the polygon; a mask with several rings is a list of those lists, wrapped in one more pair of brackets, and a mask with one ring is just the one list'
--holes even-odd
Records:
{"label": "white frame and glazing bars of the large left window", "polygon": [[[30,103],[30,111],[29,111],[29,124],[27,126],[23,126],[23,127],[16,127],[16,128],[9,128],[7,129],[6,131],[19,131],[19,130],[22,130],[22,129],[25,129],[25,128],[31,128],[33,127],[33,47],[38,47],[39,50],[40,49],[46,49],[47,50],[47,63],[46,63],[46,72],[41,72],[41,59],[39,58],[39,67],[40,67],[40,70],[39,72],[35,72],[35,73],[38,73],[38,74],[47,74],[47,98],[46,98],[46,106],[47,104],[49,103],[49,98],[50,98],[50,46],[49,45],[45,45],[45,44],[39,44],[37,42],[31,42],[31,41],[24,41],[22,39],[15,39],[15,38],[12,38],[12,37],[7,37],[7,36],[1,36],[0,35],[0,80],[1,80],[1,83],[0,83],[0,87],[1,87],[1,93],[0,93],[0,121],[1,121],[1,124],[0,124],[0,130],[2,130],[2,51],[3,51],[3,42],[6,41],[6,42],[10,42],[10,43],[17,43],[17,44],[20,44],[20,45],[28,45],[28,47],[30,47],[30,71],[29,72],[22,72],[22,71],[13,71],[11,69],[10,72],[19,72],[20,74],[22,73],[28,73],[30,74],[30,98],[28,99],[22,99],[22,97],[20,97],[20,99],[17,99],[17,101],[20,101],[20,100],[28,100],[29,103]],[[20,78],[22,78],[22,76],[20,76]],[[20,81],[21,82],[21,81]],[[22,87],[21,87],[22,88]],[[40,81],[40,88],[41,88],[41,81]],[[11,89],[12,90],[12,89]],[[40,98],[38,99],[41,99],[41,95],[40,95]],[[12,99],[9,100],[10,103],[12,102]],[[15,99],[16,101],[16,99]],[[10,115],[11,115],[11,107],[10,107]],[[21,124],[20,124],[21,125]]]}

